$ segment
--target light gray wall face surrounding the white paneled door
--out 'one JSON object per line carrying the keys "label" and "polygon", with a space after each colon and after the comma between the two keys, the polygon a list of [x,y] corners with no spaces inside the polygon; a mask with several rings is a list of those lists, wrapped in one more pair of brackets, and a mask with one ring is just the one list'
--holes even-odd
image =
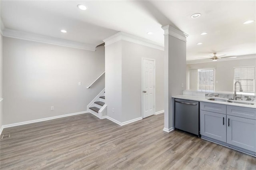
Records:
{"label": "light gray wall face surrounding the white paneled door", "polygon": [[156,60],[156,112],[164,110],[164,51],[122,40],[122,122],[142,116],[142,58]]}

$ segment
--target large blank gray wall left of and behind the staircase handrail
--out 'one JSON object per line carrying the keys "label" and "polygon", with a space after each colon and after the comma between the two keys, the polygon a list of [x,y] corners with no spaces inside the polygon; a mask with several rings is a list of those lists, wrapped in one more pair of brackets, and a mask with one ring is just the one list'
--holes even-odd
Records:
{"label": "large blank gray wall left of and behind the staircase handrail", "polygon": [[104,88],[102,76],[86,89],[104,63],[104,46],[86,51],[4,37],[3,125],[86,111]]}

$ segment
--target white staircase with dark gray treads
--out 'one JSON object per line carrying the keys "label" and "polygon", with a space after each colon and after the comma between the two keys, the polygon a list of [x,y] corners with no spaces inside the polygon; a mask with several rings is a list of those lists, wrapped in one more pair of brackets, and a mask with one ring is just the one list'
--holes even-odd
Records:
{"label": "white staircase with dark gray treads", "polygon": [[87,110],[100,119],[106,116],[105,91],[101,92],[88,106]]}

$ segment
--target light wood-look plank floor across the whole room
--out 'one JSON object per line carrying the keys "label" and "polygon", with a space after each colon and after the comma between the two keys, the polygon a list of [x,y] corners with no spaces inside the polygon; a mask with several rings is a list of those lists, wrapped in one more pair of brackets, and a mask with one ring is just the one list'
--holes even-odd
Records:
{"label": "light wood-look plank floor across the whole room", "polygon": [[83,114],[5,128],[0,169],[256,169],[256,158],[180,132],[164,115],[120,127]]}

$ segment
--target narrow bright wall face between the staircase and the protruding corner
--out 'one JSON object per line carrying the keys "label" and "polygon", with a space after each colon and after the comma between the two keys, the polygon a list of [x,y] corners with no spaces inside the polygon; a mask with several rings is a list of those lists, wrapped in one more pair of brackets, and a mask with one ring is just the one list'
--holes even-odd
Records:
{"label": "narrow bright wall face between the staircase and the protruding corner", "polygon": [[105,54],[107,115],[122,122],[122,42],[106,46]]}

